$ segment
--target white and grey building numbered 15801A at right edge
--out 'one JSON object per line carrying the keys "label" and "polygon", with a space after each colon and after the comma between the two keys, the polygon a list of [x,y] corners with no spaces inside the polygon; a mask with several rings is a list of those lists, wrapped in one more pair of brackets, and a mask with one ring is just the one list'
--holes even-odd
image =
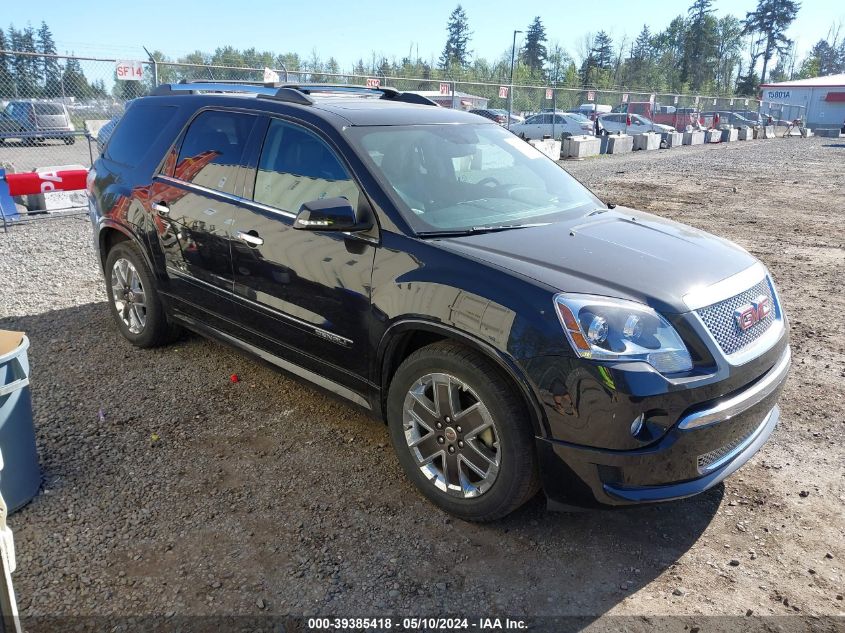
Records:
{"label": "white and grey building numbered 15801A at right edge", "polygon": [[809,128],[839,128],[845,123],[845,73],[762,84],[760,92],[764,114],[802,117]]}

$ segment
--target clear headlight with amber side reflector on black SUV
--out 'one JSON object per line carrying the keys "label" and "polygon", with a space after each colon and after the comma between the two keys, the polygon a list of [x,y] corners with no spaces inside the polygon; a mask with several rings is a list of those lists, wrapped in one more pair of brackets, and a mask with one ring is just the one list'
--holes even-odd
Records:
{"label": "clear headlight with amber side reflector on black SUV", "polygon": [[558,317],[581,358],[643,361],[662,374],[692,369],[670,323],[642,303],[592,295],[555,296]]}

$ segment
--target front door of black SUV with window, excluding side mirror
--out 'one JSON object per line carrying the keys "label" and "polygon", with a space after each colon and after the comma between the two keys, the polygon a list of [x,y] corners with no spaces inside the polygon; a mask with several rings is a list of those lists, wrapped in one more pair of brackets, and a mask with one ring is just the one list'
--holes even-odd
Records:
{"label": "front door of black SUV with window, excluding side mirror", "polygon": [[377,228],[350,236],[293,221],[306,202],[345,197],[360,209],[364,195],[326,140],[280,119],[269,121],[250,193],[235,216],[232,261],[252,329],[288,360],[362,389]]}

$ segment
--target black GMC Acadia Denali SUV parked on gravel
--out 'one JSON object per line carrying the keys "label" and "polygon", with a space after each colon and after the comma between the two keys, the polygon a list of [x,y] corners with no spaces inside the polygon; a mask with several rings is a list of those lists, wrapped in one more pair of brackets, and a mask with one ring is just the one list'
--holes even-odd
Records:
{"label": "black GMC Acadia Denali SUV parked on gravel", "polygon": [[161,86],[89,183],[129,341],[188,328],[371,410],[460,517],[541,485],[555,505],[687,497],[777,423],[788,328],[758,260],[418,95]]}

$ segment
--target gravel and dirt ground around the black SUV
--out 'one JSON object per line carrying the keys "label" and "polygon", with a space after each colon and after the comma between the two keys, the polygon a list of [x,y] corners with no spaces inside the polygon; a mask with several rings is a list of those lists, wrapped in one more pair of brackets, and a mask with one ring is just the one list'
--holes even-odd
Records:
{"label": "gravel and dirt ground around the black SUV", "polygon": [[198,337],[130,346],[87,219],[0,233],[0,327],[32,340],[44,470],[10,519],[25,622],[463,613],[613,629],[595,619],[636,615],[638,630],[682,614],[690,629],[740,616],[725,621],[738,630],[747,614],[845,615],[843,152],[776,139],[565,163],[606,200],[759,256],[791,318],[793,373],[772,440],[724,486],[578,514],[537,498],[490,525],[426,503],[385,427],[345,402]]}

